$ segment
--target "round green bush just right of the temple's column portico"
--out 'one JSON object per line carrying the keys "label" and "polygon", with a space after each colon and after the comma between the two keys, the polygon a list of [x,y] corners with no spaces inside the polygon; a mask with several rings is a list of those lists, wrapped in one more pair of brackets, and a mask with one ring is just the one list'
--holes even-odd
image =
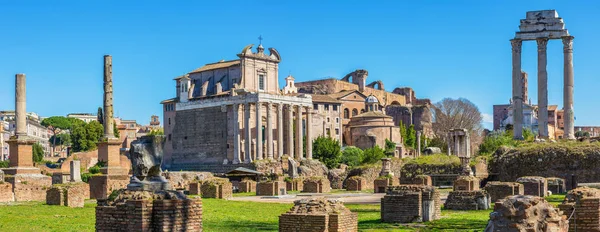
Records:
{"label": "round green bush just right of the temple's column portico", "polygon": [[342,157],[340,142],[327,136],[319,136],[313,141],[313,155],[328,168],[337,168]]}

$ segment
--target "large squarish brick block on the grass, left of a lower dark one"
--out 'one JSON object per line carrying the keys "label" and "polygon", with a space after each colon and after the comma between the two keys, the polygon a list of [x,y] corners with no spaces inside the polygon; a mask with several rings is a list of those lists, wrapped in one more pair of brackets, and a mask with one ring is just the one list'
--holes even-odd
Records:
{"label": "large squarish brick block on the grass, left of a lower dark one", "polygon": [[391,186],[381,199],[381,221],[393,223],[427,222],[442,215],[439,191],[432,186]]}

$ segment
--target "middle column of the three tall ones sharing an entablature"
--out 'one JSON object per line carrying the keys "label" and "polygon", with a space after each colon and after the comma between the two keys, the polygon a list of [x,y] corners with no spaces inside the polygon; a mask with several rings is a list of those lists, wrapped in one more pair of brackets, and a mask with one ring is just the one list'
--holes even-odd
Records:
{"label": "middle column of the three tall ones sharing an entablature", "polygon": [[546,71],[546,45],[548,38],[538,38],[538,131],[548,138],[548,72]]}

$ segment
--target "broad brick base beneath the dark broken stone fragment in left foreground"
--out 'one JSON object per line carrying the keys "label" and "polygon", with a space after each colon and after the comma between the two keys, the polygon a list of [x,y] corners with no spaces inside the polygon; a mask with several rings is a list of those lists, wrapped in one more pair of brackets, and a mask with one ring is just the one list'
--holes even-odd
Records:
{"label": "broad brick base beneath the dark broken stone fragment in left foreground", "polygon": [[96,231],[202,231],[202,201],[127,200],[97,206]]}

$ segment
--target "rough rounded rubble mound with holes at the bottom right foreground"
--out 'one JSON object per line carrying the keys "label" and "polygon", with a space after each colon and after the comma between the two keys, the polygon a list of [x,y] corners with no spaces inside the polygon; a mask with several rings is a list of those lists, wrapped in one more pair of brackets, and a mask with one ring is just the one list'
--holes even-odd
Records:
{"label": "rough rounded rubble mound with holes at the bottom right foreground", "polygon": [[496,202],[485,232],[567,232],[570,224],[567,216],[566,212],[563,214],[555,209],[544,198],[510,196]]}

